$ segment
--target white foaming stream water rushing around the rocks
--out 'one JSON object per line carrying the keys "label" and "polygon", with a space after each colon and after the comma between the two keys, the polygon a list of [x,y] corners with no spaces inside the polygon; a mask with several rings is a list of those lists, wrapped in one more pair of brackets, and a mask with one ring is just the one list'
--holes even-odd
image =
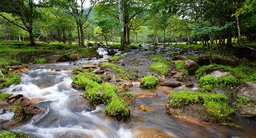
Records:
{"label": "white foaming stream water rushing around the rocks", "polygon": [[[0,109],[0,126],[14,131],[22,131],[33,137],[136,137],[139,132],[160,130],[174,137],[255,137],[255,120],[242,119],[239,123],[245,128],[241,130],[222,125],[191,123],[173,118],[165,112],[167,94],[161,89],[145,90],[131,88],[129,91],[151,91],[157,93],[154,98],[136,99],[131,105],[131,120],[117,122],[103,114],[106,105],[98,105],[94,111],[76,112],[74,108],[80,106],[86,99],[82,91],[72,88],[72,68],[80,67],[81,63],[99,63],[104,59],[82,59],[76,65],[70,63],[29,65],[31,71],[20,73],[21,83],[12,85],[1,91],[13,94],[23,94],[31,100],[33,105],[46,111],[31,119],[17,121],[9,106]],[[55,69],[61,71],[55,71]],[[178,91],[178,87],[172,91]],[[192,88],[197,90],[197,88]],[[141,112],[138,108],[144,104],[148,112]],[[0,104],[1,105],[1,104]],[[10,105],[11,106],[11,105]],[[5,109],[3,109],[5,108]],[[0,130],[3,132],[4,130]]]}

